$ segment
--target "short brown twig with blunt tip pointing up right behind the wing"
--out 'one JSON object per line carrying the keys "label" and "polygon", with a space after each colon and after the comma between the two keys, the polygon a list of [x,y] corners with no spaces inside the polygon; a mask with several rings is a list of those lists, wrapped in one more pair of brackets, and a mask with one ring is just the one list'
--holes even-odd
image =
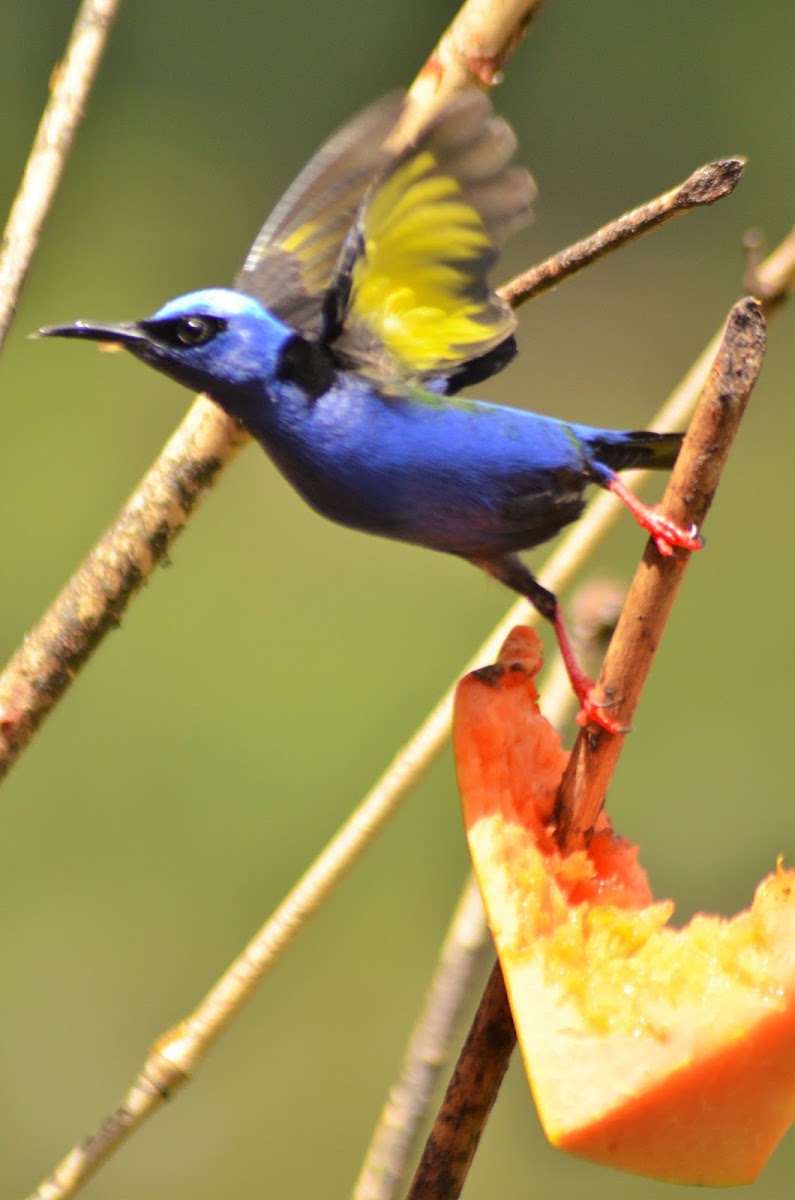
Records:
{"label": "short brown twig with blunt tip pointing up right behind the wing", "polygon": [[664,192],[653,200],[647,200],[639,208],[616,217],[615,221],[609,221],[588,238],[518,275],[501,288],[502,295],[518,308],[526,300],[532,300],[542,292],[556,287],[562,280],[576,275],[584,266],[596,263],[597,259],[640,238],[641,234],[682,216],[683,212],[689,212],[691,209],[700,208],[703,204],[715,204],[735,190],[745,166],[745,158],[718,158],[716,162],[707,162],[670,192]]}

